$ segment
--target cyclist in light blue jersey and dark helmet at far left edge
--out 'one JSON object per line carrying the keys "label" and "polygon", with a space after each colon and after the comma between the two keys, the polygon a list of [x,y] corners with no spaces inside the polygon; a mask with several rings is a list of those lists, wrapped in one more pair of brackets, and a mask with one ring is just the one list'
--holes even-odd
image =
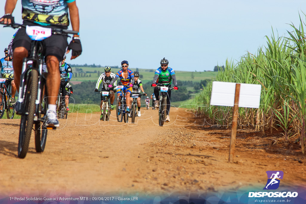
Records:
{"label": "cyclist in light blue jersey and dark helmet at far left edge", "polygon": [[[15,104],[15,94],[16,94],[16,86],[14,83],[14,69],[13,69],[13,62],[11,60],[6,61],[5,58],[7,58],[8,49],[4,49],[5,57],[0,59],[0,70],[1,70],[1,78],[6,78],[5,86],[8,87],[9,84],[11,84],[12,87],[12,98],[11,103]],[[7,58],[8,59],[8,58]],[[0,89],[0,91],[3,91],[3,88]],[[0,101],[2,98],[0,98]]]}

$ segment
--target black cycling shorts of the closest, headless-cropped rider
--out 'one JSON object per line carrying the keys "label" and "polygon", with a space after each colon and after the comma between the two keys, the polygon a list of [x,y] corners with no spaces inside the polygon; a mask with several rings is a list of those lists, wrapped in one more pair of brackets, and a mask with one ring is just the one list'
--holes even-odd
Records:
{"label": "black cycling shorts of the closest, headless-cropped rider", "polygon": [[[27,22],[24,21],[24,25],[38,25],[36,23]],[[42,27],[51,27],[53,26],[42,26]],[[63,27],[63,29],[66,29]],[[66,53],[66,48],[68,46],[67,42],[67,35],[51,35],[49,38],[44,39],[43,41],[43,55],[45,57],[51,55],[58,58],[58,61],[62,61],[64,54]],[[28,50],[28,55],[31,51],[31,39],[26,34],[25,28],[21,27],[19,28],[18,32],[16,33],[14,39],[13,39],[13,50],[16,47],[24,47]]]}

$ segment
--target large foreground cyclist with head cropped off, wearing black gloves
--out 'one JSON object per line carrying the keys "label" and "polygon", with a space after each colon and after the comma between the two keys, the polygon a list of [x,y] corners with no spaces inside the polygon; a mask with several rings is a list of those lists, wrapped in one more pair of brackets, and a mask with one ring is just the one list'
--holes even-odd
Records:
{"label": "large foreground cyclist with head cropped off, wearing black gloves", "polygon": [[[17,0],[6,0],[5,15],[0,18],[3,24],[13,24],[12,17]],[[67,29],[69,26],[69,16],[72,29],[79,32],[79,11],[75,0],[57,0],[57,1],[38,1],[21,0],[23,24],[28,26],[43,26],[47,28]],[[78,57],[82,53],[82,46],[79,35],[73,35],[68,45],[67,35],[51,35],[42,41],[43,54],[45,56],[48,74],[47,74],[47,94],[49,104],[47,109],[47,127],[59,127],[56,115],[56,99],[60,87],[59,62],[62,61],[65,53],[72,50],[71,59]],[[68,50],[66,52],[66,48]],[[31,39],[26,34],[24,27],[19,28],[13,39],[13,66],[14,81],[19,90],[20,76],[22,71],[22,61],[31,51]],[[16,113],[21,113],[21,103],[15,105]]]}

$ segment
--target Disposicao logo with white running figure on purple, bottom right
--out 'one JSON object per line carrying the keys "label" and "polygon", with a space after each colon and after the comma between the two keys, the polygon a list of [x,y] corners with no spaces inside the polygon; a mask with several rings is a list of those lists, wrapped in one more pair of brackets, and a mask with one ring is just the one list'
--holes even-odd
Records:
{"label": "Disposicao logo with white running figure on purple, bottom right", "polygon": [[[268,180],[267,184],[263,188],[263,190],[275,190],[278,189],[280,180],[284,177],[284,172],[282,171],[266,171]],[[250,197],[282,197],[282,198],[295,198],[298,196],[297,192],[249,192]]]}

